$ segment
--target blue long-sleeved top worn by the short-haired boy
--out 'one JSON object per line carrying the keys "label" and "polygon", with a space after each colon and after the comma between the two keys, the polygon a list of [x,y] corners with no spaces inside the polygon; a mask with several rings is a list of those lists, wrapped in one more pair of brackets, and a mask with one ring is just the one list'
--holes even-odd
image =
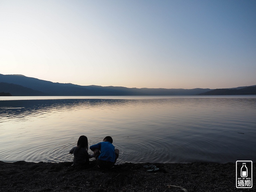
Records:
{"label": "blue long-sleeved top worn by the short-haired boy", "polygon": [[94,151],[94,149],[100,150],[99,160],[101,161],[110,161],[115,162],[115,146],[112,143],[105,141],[100,142],[95,145],[90,146],[90,149]]}

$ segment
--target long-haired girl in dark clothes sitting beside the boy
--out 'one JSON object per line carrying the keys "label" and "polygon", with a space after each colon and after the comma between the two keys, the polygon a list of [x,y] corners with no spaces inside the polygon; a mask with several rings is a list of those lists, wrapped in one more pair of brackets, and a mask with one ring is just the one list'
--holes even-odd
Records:
{"label": "long-haired girl in dark clothes sitting beside the boy", "polygon": [[70,154],[74,154],[73,165],[89,165],[89,158],[94,157],[88,154],[88,139],[86,136],[82,135],[77,141],[77,146],[73,147]]}

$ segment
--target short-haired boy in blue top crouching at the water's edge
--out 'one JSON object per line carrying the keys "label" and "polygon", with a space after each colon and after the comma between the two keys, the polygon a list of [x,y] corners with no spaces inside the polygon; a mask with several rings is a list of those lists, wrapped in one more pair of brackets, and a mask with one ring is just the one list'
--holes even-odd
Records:
{"label": "short-haired boy in blue top crouching at the water's edge", "polygon": [[107,136],[103,142],[90,146],[96,159],[96,165],[100,168],[111,168],[119,156],[119,150],[112,145],[113,139]]}

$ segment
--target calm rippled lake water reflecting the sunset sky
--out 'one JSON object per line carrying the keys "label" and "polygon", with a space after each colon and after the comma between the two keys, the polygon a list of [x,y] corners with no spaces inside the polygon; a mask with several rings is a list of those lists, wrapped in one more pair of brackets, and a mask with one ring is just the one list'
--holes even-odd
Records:
{"label": "calm rippled lake water reflecting the sunset sky", "polygon": [[72,161],[80,135],[118,163],[256,162],[256,95],[0,97],[1,161]]}

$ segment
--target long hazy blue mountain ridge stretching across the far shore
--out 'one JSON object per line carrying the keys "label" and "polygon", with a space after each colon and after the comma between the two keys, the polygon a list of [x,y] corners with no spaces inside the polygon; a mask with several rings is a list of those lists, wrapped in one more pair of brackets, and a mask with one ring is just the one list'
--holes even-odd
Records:
{"label": "long hazy blue mountain ridge stretching across the far shore", "polygon": [[[0,82],[23,86],[23,90],[16,92],[8,91],[13,96],[24,96],[24,94],[45,96],[139,96],[139,95],[196,95],[210,91],[211,89],[162,89],[162,88],[127,88],[113,86],[81,86],[71,83],[53,83],[51,81],[26,77],[24,75],[0,74]],[[14,86],[14,85],[9,85]],[[21,87],[19,87],[21,88]],[[30,91],[27,89],[29,88]],[[0,89],[0,92],[4,90]]]}

